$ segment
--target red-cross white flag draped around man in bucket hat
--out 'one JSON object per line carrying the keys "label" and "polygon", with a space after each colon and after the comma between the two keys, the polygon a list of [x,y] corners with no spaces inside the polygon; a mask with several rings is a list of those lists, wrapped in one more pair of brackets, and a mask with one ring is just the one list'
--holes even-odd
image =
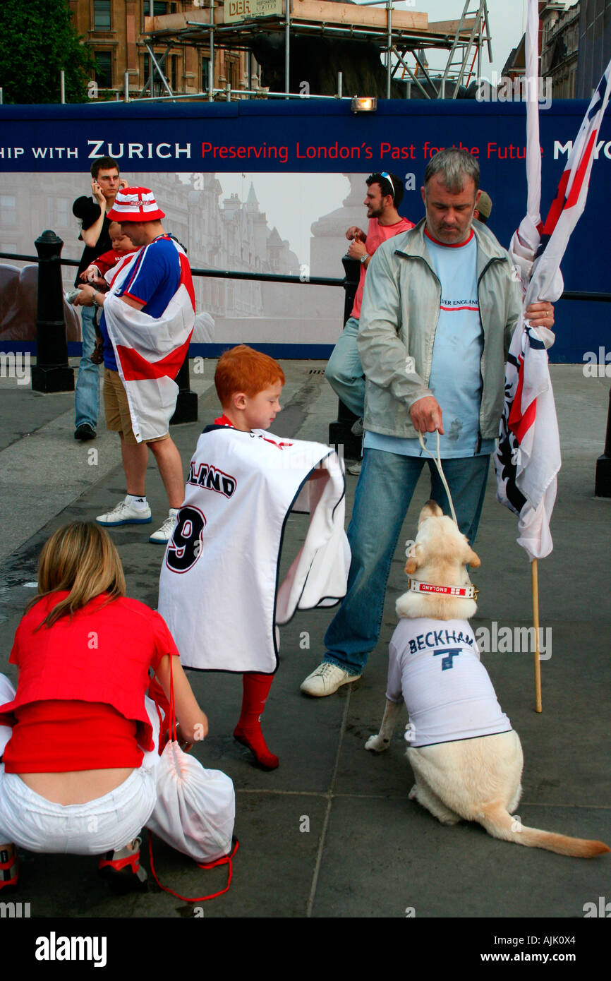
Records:
{"label": "red-cross white flag draped around man in bucket hat", "polygon": [[144,262],[147,249],[154,246],[146,245],[128,255],[119,269],[115,266],[107,274],[111,290],[104,300],[104,318],[138,442],[168,432],[178,396],[174,380],[188,352],[195,324],[195,294],[188,260],[178,242],[169,240],[178,252],[180,280],[161,316],[151,317],[116,295],[134,262]]}

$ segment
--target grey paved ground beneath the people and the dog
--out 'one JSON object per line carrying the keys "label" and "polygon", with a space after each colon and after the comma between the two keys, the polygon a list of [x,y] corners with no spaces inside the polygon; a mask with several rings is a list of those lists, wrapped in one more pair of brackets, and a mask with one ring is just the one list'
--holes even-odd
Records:
{"label": "grey paved ground beneath the people and the dog", "polygon": [[[283,362],[281,436],[327,441],[336,401],[322,362]],[[192,376],[199,422],[175,427],[186,466],[197,436],[217,414],[212,378]],[[611,843],[608,704],[611,500],[593,498],[594,464],[603,450],[608,379],[586,379],[580,366],[555,366],[563,469],[552,534],[554,551],[539,563],[541,626],[549,659],[542,662],[543,712],[534,711],[530,652],[490,652],[484,663],[525,753],[525,824]],[[124,494],[118,440],[110,434],[73,439],[71,394],[40,395],[0,380],[0,671],[7,671],[13,633],[33,594],[36,557],[59,525],[93,518]],[[95,453],[92,451],[95,450]],[[163,549],[150,544],[167,513],[151,457],[147,492],[153,524],[113,530],[129,595],[156,604]],[[349,514],[356,478],[347,477]],[[400,542],[414,537],[428,497],[423,479]],[[304,536],[291,516],[288,561]],[[474,627],[494,632],[531,623],[530,568],[515,543],[516,519],[494,501],[490,476],[476,549],[482,568]],[[584,905],[611,900],[611,855],[589,861],[495,841],[476,825],[442,827],[408,800],[411,774],[403,725],[382,756],[367,753],[384,704],[387,642],[394,602],[404,589],[404,546],[392,564],[382,638],[362,680],[333,697],[312,699],[299,684],[318,664],[329,611],[299,613],[281,631],[281,664],[264,716],[270,748],[280,755],[272,773],[256,769],[231,737],[239,712],[238,677],[191,673],[210,718],[210,736],[195,749],[206,766],[225,770],[237,798],[229,893],[205,904],[206,917],[560,917],[582,918]],[[8,674],[14,676],[12,667]],[[406,721],[406,720],[405,720]],[[160,843],[162,881],[197,896],[222,889],[224,869],[201,872]],[[145,859],[147,863],[147,858]],[[19,897],[39,917],[192,917],[193,907],[158,891],[118,900],[98,881],[90,858],[25,854]],[[524,929],[527,929],[526,927]]]}

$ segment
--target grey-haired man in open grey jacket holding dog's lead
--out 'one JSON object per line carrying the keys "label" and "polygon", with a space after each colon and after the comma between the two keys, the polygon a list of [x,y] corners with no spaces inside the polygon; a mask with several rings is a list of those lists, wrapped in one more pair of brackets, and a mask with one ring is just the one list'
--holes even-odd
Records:
{"label": "grey-haired man in open grey jacket holding dog's lead", "polygon": [[[479,182],[469,153],[437,153],[422,188],[426,219],[384,242],[370,263],[358,335],[365,439],[348,528],[348,591],[325,636],[325,659],[301,686],[307,695],[356,681],[377,645],[390,562],[425,462],[431,496],[449,513],[419,432],[431,434],[433,452],[439,434],[460,530],[475,540],[522,304],[509,253],[474,224]],[[528,315],[535,326],[553,325],[551,303],[532,304]]]}

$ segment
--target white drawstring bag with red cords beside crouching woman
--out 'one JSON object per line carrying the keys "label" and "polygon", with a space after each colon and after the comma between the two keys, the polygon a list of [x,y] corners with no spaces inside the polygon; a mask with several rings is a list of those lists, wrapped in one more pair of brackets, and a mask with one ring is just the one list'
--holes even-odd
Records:
{"label": "white drawstring bag with red cords beside crouching woman", "polygon": [[146,826],[196,862],[211,862],[231,851],[233,784],[221,770],[206,770],[180,749],[172,673],[171,679],[170,740],[157,765],[157,803]]}

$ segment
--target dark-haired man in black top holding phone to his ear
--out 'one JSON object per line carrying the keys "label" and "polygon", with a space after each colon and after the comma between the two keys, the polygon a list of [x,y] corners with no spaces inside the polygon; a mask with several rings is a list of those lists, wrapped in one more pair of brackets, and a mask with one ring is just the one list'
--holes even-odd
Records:
{"label": "dark-haired man in black top holding phone to his ear", "polygon": [[[80,274],[103,252],[112,248],[108,233],[108,212],[117,192],[127,186],[119,176],[119,164],[112,157],[99,157],[91,164],[91,197],[77,197],[73,214],[80,221],[79,238],[84,249],[76,272],[75,284],[82,285]],[[100,407],[99,366],[91,360],[95,347],[94,307],[81,307],[82,354],[78,365],[75,391],[75,439],[95,439]]]}

